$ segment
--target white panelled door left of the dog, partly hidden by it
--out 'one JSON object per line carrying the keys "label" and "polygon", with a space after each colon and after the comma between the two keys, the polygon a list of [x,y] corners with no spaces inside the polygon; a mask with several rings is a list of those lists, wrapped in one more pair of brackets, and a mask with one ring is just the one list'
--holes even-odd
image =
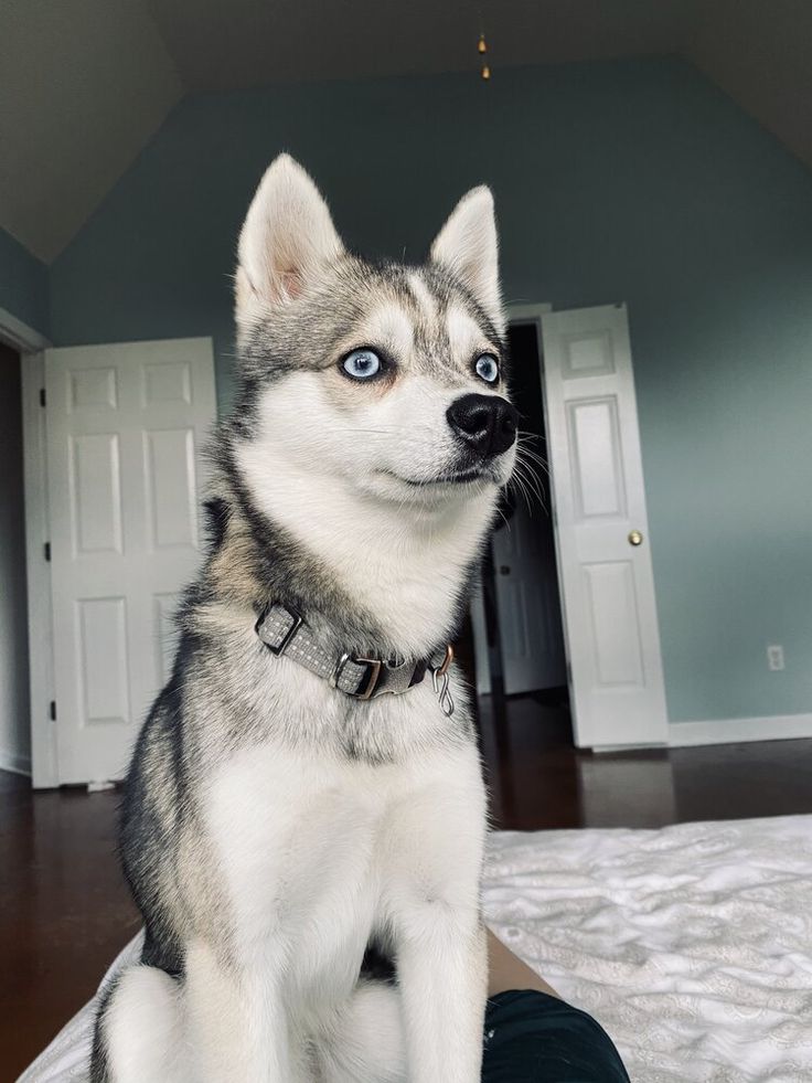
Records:
{"label": "white panelled door left of the dog, partly hidden by it", "polygon": [[200,561],[210,339],[45,353],[61,783],[122,777]]}

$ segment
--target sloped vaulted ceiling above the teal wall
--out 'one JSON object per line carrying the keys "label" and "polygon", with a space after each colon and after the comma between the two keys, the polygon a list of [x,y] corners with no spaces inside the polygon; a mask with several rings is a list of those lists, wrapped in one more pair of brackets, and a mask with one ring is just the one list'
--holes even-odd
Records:
{"label": "sloped vaulted ceiling above the teal wall", "polygon": [[810,0],[1,0],[0,225],[45,262],[186,91],[679,53],[812,167]]}

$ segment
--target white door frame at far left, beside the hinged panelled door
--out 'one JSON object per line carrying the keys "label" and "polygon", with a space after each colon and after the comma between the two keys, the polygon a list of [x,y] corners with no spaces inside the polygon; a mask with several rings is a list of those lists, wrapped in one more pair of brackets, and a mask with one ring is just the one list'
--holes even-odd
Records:
{"label": "white door frame at far left, beside the hinged panelled door", "polygon": [[[25,493],[25,585],[29,624],[29,730],[31,777],[35,788],[56,786],[56,731],[51,720],[53,699],[53,629],[47,541],[45,417],[40,390],[45,386],[43,351],[52,343],[44,335],[0,308],[0,339],[20,354],[22,383],[23,490]],[[39,645],[31,650],[31,644]]]}

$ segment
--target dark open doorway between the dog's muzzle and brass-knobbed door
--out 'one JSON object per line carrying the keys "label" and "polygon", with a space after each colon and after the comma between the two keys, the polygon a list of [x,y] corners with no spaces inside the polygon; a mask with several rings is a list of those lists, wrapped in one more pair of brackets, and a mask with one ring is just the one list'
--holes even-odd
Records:
{"label": "dark open doorway between the dog's muzzle and brass-knobbed door", "polygon": [[510,704],[511,720],[526,718],[536,736],[546,729],[557,742],[571,744],[537,319],[511,321],[507,337],[511,394],[522,415],[525,454],[485,555],[481,608],[474,613],[478,637],[487,643],[487,648],[478,645],[478,691],[490,697],[483,713],[492,712],[502,739]]}

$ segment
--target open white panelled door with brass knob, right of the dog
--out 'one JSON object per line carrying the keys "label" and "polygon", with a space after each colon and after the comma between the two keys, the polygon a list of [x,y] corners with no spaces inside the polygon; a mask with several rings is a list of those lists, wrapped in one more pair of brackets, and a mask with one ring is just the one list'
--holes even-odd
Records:
{"label": "open white panelled door with brass knob, right of the dog", "polygon": [[667,741],[624,305],[542,317],[544,404],[579,747]]}

